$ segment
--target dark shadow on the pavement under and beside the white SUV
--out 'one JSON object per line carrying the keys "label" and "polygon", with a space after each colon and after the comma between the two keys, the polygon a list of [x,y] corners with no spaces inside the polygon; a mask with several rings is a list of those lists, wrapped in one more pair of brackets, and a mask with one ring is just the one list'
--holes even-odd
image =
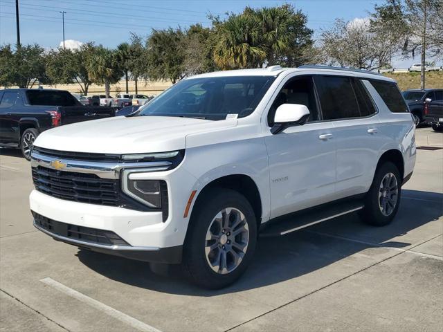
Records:
{"label": "dark shadow on the pavement under and beside the white SUV", "polygon": [[[395,220],[377,228],[350,214],[282,237],[260,238],[255,258],[232,286],[208,291],[186,281],[179,266],[168,276],[152,273],[149,264],[80,250],[85,266],[118,282],[178,295],[215,296],[277,284],[334,264],[367,248],[404,248],[414,243],[392,240],[443,215],[443,194],[403,190]],[[392,241],[391,241],[392,240]],[[426,240],[426,239],[424,239]]]}

